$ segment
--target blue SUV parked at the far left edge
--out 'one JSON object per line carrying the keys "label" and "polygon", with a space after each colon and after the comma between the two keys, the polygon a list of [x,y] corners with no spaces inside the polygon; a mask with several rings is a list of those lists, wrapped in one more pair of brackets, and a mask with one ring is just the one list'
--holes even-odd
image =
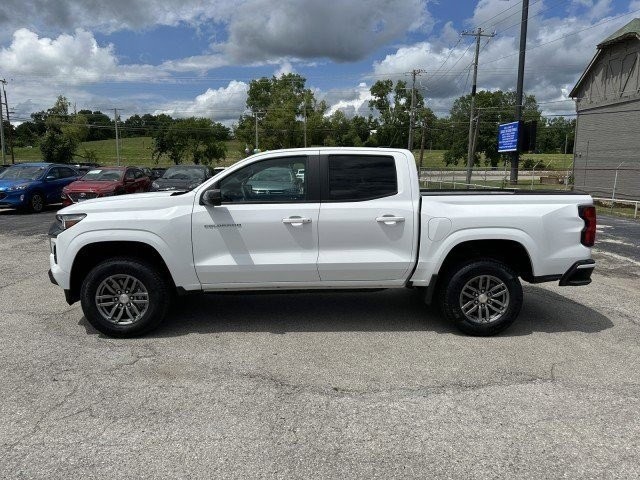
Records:
{"label": "blue SUV parked at the far left edge", "polygon": [[62,202],[62,189],[80,178],[68,165],[21,163],[0,172],[0,207],[41,212]]}

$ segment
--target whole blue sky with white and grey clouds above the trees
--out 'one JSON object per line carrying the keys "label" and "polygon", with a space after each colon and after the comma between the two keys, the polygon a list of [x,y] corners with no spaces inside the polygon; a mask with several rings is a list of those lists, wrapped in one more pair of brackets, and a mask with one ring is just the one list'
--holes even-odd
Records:
{"label": "whole blue sky with white and grey clouds above the trees", "polygon": [[[230,124],[248,82],[296,72],[331,111],[367,114],[378,79],[409,80],[437,115],[470,89],[473,38],[484,39],[479,88],[514,89],[516,0],[2,0],[0,78],[16,121],[59,94],[78,109],[207,116]],[[640,0],[530,0],[525,90],[549,114],[596,44]]]}

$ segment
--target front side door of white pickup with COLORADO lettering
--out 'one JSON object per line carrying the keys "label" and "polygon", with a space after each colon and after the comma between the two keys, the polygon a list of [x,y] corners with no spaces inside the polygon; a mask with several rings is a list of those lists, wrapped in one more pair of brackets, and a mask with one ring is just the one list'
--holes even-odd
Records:
{"label": "front side door of white pickup with COLORADO lettering", "polygon": [[[296,177],[299,169],[309,173]],[[222,205],[193,210],[193,259],[203,286],[318,282],[318,156],[256,161],[218,180]]]}

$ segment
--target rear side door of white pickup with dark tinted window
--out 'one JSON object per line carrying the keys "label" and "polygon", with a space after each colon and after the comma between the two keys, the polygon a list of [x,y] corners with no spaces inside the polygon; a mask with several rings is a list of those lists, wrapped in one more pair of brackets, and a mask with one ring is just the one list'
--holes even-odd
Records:
{"label": "rear side door of white pickup with dark tinted window", "polygon": [[323,282],[393,281],[408,274],[416,255],[408,168],[402,154],[320,157]]}

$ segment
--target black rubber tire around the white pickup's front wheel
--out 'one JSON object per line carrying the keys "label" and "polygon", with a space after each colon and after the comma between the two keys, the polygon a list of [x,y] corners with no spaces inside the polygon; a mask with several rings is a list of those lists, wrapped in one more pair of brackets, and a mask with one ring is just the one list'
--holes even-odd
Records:
{"label": "black rubber tire around the white pickup's front wheel", "polygon": [[[133,277],[143,285],[147,292],[146,311],[131,323],[122,324],[109,321],[103,316],[97,305],[98,289],[104,288],[101,287],[103,281],[113,276]],[[118,294],[114,295],[115,299]],[[96,330],[110,337],[119,338],[136,337],[157,328],[167,315],[172,297],[171,282],[162,272],[143,260],[126,257],[105,260],[96,265],[89,272],[80,289],[80,303],[85,318]],[[125,305],[122,305],[121,308],[125,308]]]}

